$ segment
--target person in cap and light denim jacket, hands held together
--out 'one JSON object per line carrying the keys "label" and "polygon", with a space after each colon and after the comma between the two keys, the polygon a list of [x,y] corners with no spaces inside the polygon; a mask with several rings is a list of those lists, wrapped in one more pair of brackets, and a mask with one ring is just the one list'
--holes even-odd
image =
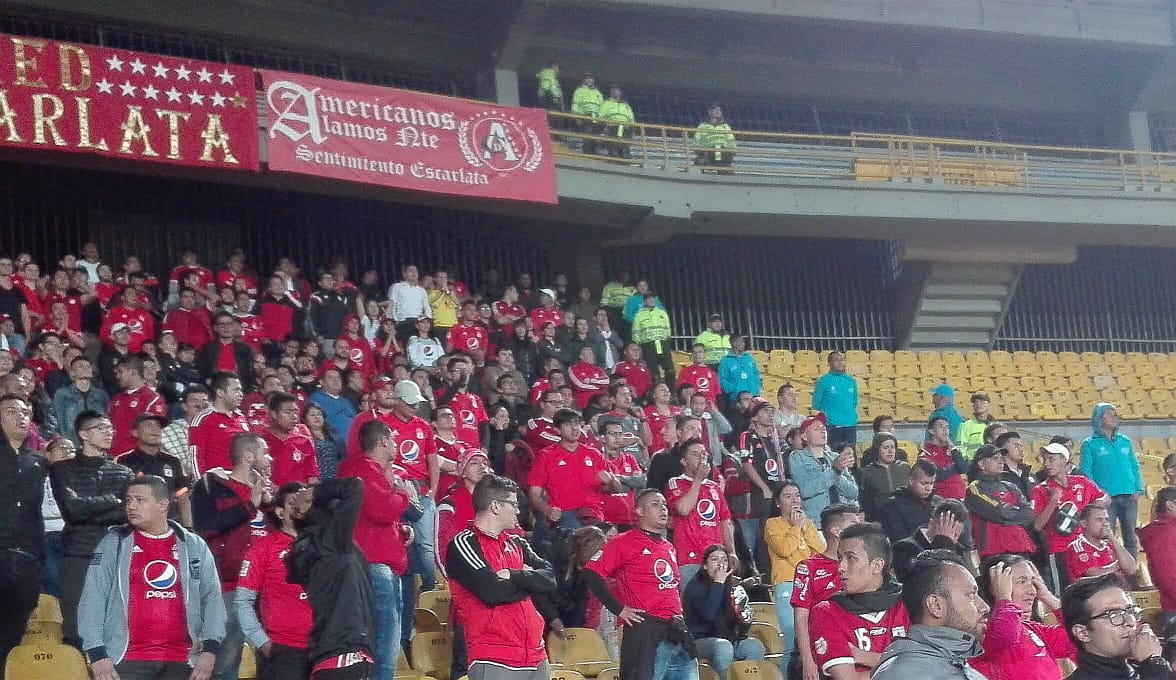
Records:
{"label": "person in cap and light denim jacket, hands held together", "polygon": [[857,500],[857,481],[850,472],[854,454],[846,451],[834,458],[824,414],[806,418],[800,435],[804,448],[788,454],[788,471],[801,487],[804,514],[821,516],[821,511],[830,504]]}

